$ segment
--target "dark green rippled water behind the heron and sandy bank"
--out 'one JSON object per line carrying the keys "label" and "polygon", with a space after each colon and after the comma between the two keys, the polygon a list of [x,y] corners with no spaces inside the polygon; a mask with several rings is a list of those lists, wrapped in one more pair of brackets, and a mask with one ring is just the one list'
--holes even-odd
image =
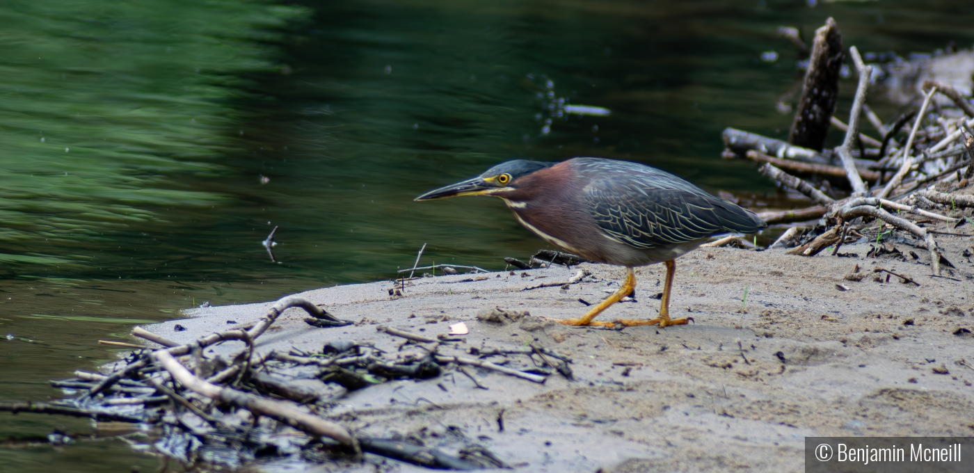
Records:
{"label": "dark green rippled water behind the heron and sandy bank", "polygon": [[[773,195],[718,155],[724,127],[787,130],[774,103],[798,56],[777,26],[810,38],[833,16],[846,45],[901,55],[974,43],[964,2],[915,3],[5,2],[0,399],[58,395],[48,380],[114,359],[96,341],[131,323],[389,278],[423,243],[424,263],[503,268],[544,244],[501,202],[412,198],[506,159],[613,157]],[[558,98],[612,114],[552,116]],[[281,264],[259,243],[274,226]],[[91,432],[0,418],[0,438]],[[132,465],[160,462],[117,440],[0,447],[4,472]]]}

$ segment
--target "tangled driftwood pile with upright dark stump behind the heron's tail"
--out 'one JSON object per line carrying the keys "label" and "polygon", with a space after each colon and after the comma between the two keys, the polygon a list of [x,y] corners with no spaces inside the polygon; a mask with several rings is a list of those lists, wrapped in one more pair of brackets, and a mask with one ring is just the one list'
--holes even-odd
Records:
{"label": "tangled driftwood pile with upright dark stump behind the heron's tail", "polygon": [[[843,50],[838,26],[829,18],[815,34],[789,141],[727,128],[724,157],[762,164],[762,174],[815,203],[805,209],[762,214],[769,224],[821,217],[820,225],[804,238],[803,232],[791,229],[772,246],[795,246],[789,253],[812,256],[835,245],[835,253],[850,235],[858,239],[863,236],[860,231],[870,226],[884,235],[888,228],[916,237],[915,245],[930,254],[933,275],[940,275],[946,260],[933,234],[944,232],[922,225],[937,221],[967,223],[965,217],[944,215],[944,210],[974,206],[974,196],[962,192],[974,174],[974,133],[970,130],[974,127],[974,107],[952,87],[925,81],[919,109],[884,125],[866,105],[872,66],[863,62],[855,47],[849,48],[848,54],[858,74],[858,85],[847,125],[833,115]],[[938,93],[950,99],[949,104],[933,100]],[[860,131],[863,116],[880,132],[881,139]],[[838,148],[823,150],[830,126],[842,128],[845,138]],[[851,192],[839,199],[833,187],[843,184]],[[883,225],[873,223],[877,219]]]}

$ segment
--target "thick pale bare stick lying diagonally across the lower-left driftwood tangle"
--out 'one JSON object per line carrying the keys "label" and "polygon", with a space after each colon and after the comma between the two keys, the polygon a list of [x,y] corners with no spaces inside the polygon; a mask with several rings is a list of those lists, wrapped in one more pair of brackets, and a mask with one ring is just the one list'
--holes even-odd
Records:
{"label": "thick pale bare stick lying diagonally across the lower-left driftwood tangle", "polygon": [[318,416],[301,412],[292,402],[272,401],[229,387],[220,387],[205,382],[176,361],[168,350],[158,350],[152,356],[169,372],[172,379],[197,394],[246,409],[254,415],[274,418],[315,437],[329,438],[345,447],[358,451],[356,439],[352,437],[348,429],[337,423],[318,418]]}

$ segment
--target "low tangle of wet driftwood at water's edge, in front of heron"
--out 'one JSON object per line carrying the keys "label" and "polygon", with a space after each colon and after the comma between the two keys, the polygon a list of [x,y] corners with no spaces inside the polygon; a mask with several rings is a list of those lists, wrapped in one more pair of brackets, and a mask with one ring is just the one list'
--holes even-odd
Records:
{"label": "low tangle of wet driftwood at water's edge, in front of heron", "polygon": [[[254,323],[189,344],[136,327],[132,335],[162,347],[133,351],[123,367],[109,375],[76,372],[74,380],[53,382],[77,390],[80,395],[73,399],[4,403],[0,411],[152,425],[160,429],[155,449],[185,465],[237,465],[269,456],[354,461],[369,453],[431,468],[470,470],[506,465],[476,444],[461,449],[459,455],[448,455],[400,439],[360,435],[327,419],[328,413],[351,390],[392,380],[438,378],[450,371],[486,389],[468,367],[527,382],[544,382],[552,375],[572,378],[572,360],[541,346],[480,346],[461,351],[454,343],[463,342],[464,326],[454,326],[460,335],[437,337],[378,326],[380,333],[403,341],[396,352],[331,340],[315,353],[255,353],[255,341],[288,308],[306,310],[311,317],[305,321],[313,326],[351,323],[291,296],[278,301]],[[244,343],[231,360],[206,350],[231,341]],[[318,379],[332,388],[310,388],[301,379]]]}

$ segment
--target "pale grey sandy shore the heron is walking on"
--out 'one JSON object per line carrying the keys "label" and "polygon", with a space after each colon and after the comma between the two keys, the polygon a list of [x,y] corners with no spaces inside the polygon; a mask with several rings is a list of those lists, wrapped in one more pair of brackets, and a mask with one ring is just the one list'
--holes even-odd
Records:
{"label": "pale grey sandy shore the heron is walking on", "polygon": [[[476,318],[496,307],[577,317],[585,311],[580,298],[598,301],[618,287],[623,270],[602,265],[582,265],[593,278],[568,289],[523,290],[576,272],[565,268],[526,277],[421,278],[394,299],[390,281],[318,289],[302,295],[359,323],[313,328],[302,321],[304,312],[290,309],[280,328],[259,339],[259,350],[319,351],[332,339],[394,350],[398,342],[378,333],[378,324],[434,335],[464,321],[470,333],[459,349],[537,342],[570,355],[576,381],[552,376],[538,384],[478,372],[489,389],[452,375],[386,382],[345,395],[331,418],[448,452],[479,443],[521,471],[803,471],[805,436],[974,435],[974,337],[961,330],[974,332],[974,274],[963,256],[969,238],[939,242],[956,267],[945,271],[953,278],[927,275],[927,253],[906,241],[893,243],[902,258],[866,258],[866,243],[843,246],[857,257],[702,248],[678,261],[672,302],[674,317],[690,315],[695,324],[661,330]],[[856,266],[865,277],[846,279]],[[920,286],[884,274],[875,280],[874,268],[906,274]],[[658,301],[651,296],[661,290],[663,271],[638,269],[638,302],[620,303],[600,319],[655,316]],[[188,342],[224,330],[228,321],[256,319],[267,307],[193,309],[191,318],[149,328]],[[174,331],[177,323],[188,330]],[[969,364],[958,361],[965,357]],[[385,471],[421,470],[388,464]],[[306,469],[345,470],[335,464]]]}

